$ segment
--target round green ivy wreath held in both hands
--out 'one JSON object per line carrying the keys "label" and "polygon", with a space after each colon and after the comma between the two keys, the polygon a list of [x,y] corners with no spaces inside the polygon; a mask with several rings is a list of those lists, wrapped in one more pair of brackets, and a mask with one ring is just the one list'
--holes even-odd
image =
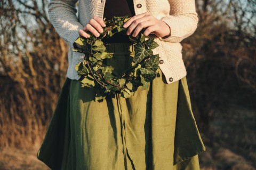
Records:
{"label": "round green ivy wreath held in both hands", "polygon": [[[89,38],[80,36],[76,39],[73,51],[83,53],[84,60],[75,66],[82,87],[96,89],[94,101],[103,101],[106,96],[114,96],[120,93],[123,98],[130,98],[137,91],[139,86],[141,90],[146,90],[149,83],[157,76],[159,72],[159,55],[153,54],[154,48],[159,45],[154,38],[142,34],[142,31],[136,36],[126,35],[127,28],[124,23],[131,17],[113,17],[105,22],[103,33],[99,37],[95,37],[90,31],[86,33]],[[107,66],[103,63],[104,59],[113,58],[113,53],[106,50],[106,46],[101,39],[111,37],[116,33],[121,33],[129,37],[130,42],[134,45],[134,58],[132,67],[123,72],[122,75],[113,74],[114,67]]]}

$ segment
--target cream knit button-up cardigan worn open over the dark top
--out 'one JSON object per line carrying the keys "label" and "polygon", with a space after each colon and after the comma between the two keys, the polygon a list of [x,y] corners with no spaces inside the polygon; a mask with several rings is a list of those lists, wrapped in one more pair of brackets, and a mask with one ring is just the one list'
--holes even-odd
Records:
{"label": "cream knit button-up cardigan worn open over the dark top", "polygon": [[[73,43],[79,37],[78,30],[83,29],[94,16],[103,19],[106,1],[108,0],[79,0],[78,17],[75,8],[77,0],[50,1],[50,21],[60,37],[69,45],[67,77],[70,79],[79,79],[75,65],[83,61],[82,53],[72,51]],[[171,28],[169,37],[161,38],[150,34],[159,44],[153,52],[159,54],[160,60],[163,60],[159,67],[166,82],[170,84],[186,76],[180,42],[193,34],[197,28],[195,0],[133,0],[133,4],[136,15],[149,12]]]}

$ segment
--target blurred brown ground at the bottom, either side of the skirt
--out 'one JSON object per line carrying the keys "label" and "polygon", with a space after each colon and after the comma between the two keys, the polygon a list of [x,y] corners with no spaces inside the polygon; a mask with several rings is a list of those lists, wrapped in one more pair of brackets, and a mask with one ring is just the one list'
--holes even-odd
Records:
{"label": "blurred brown ground at the bottom, either side of the skirt", "polygon": [[[1,149],[1,170],[49,170],[44,163],[37,159],[37,150],[20,150],[13,148]],[[255,170],[250,162],[231,150],[213,144],[206,145],[206,152],[199,154],[201,170]]]}

